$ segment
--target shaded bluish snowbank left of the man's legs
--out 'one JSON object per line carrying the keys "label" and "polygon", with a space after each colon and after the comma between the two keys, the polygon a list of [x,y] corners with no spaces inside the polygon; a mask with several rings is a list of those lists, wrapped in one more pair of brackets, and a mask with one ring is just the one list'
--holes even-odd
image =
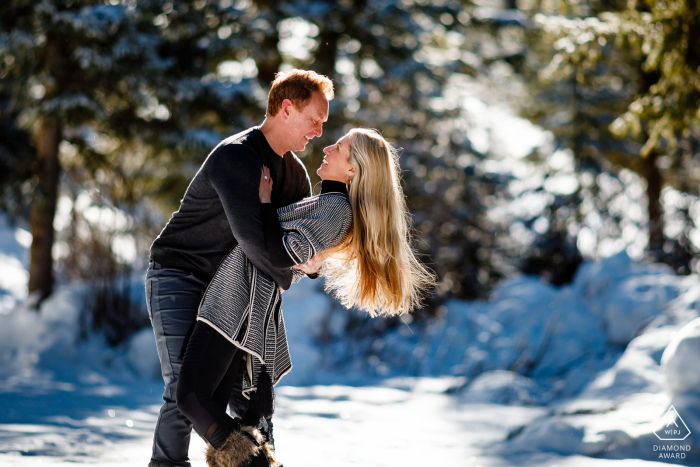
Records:
{"label": "shaded bluish snowbank left of the man's legs", "polygon": [[[89,372],[118,379],[159,379],[153,330],[111,347],[100,332],[86,332],[85,284],[59,287],[39,310],[24,303],[0,314],[0,381],[4,390],[36,381],[74,380]],[[43,384],[43,383],[42,383]]]}

